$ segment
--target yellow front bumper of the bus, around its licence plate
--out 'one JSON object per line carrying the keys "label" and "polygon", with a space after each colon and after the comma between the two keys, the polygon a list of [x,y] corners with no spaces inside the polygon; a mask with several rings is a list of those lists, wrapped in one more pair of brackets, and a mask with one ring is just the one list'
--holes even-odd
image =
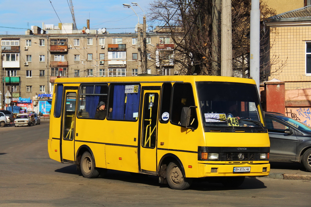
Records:
{"label": "yellow front bumper of the bus, around its licence plate", "polygon": [[[234,167],[250,167],[250,172],[233,172]],[[223,177],[223,176],[268,176],[269,163],[257,164],[203,164],[198,163],[198,177]]]}

